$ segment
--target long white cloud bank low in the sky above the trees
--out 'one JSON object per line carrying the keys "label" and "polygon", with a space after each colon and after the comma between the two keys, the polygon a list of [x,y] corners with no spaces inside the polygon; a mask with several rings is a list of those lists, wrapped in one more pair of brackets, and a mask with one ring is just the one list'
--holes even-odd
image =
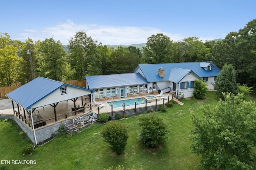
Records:
{"label": "long white cloud bank low in the sky above the trees", "polygon": [[[95,24],[75,24],[71,20],[66,23],[58,24],[53,27],[42,28],[42,30],[24,30],[20,34],[21,40],[45,40],[46,38],[53,38],[55,41],[60,40],[63,45],[68,44],[68,40],[74,37],[76,32],[86,32],[87,36],[91,36],[94,40],[102,42],[106,45],[129,45],[133,43],[146,43],[147,38],[152,34],[161,33],[158,28],[150,27],[131,27],[131,26],[100,26]],[[171,40],[181,40],[185,36],[179,34],[171,34],[162,32],[169,36]]]}

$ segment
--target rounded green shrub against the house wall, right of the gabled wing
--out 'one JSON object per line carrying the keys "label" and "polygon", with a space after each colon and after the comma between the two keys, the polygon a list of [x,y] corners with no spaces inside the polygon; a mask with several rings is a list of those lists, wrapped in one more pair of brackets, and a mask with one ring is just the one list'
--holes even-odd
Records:
{"label": "rounded green shrub against the house wall, right of the gabled wing", "polygon": [[208,93],[207,82],[202,81],[202,79],[198,79],[195,80],[194,83],[194,97],[196,97],[196,99],[203,99]]}

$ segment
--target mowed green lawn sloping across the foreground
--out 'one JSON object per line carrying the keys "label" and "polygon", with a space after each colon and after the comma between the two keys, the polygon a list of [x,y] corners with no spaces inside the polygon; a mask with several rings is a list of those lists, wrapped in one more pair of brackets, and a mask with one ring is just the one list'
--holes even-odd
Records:
{"label": "mowed green lawn sloping across the foreground", "polygon": [[[94,123],[89,128],[74,134],[56,137],[54,140],[36,148],[31,157],[22,157],[21,138],[14,126],[8,122],[0,122],[0,158],[1,160],[36,160],[36,164],[8,165],[10,168],[26,170],[70,170],[90,169],[103,170],[118,164],[125,168],[142,168],[144,170],[199,170],[200,157],[191,154],[189,139],[192,130],[191,111],[202,116],[200,107],[209,104],[214,107],[218,99],[214,92],[209,93],[204,100],[183,99],[183,106],[174,105],[166,113],[158,112],[164,122],[168,123],[170,134],[166,144],[158,148],[144,148],[138,140],[138,116],[122,120],[128,125],[129,138],[124,154],[111,152],[108,144],[102,141],[100,131],[104,125]],[[75,163],[80,157],[80,163]]]}

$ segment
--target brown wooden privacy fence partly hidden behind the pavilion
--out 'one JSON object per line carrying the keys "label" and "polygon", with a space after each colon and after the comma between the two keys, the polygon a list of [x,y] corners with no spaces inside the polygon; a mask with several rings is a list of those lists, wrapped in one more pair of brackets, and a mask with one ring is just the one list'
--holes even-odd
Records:
{"label": "brown wooden privacy fence partly hidden behind the pavilion", "polygon": [[[86,80],[67,80],[61,81],[63,83],[68,83],[71,85],[79,86],[79,87],[86,87]],[[6,98],[6,94],[18,89],[21,85],[18,86],[9,86],[9,87],[0,87],[0,98]]]}

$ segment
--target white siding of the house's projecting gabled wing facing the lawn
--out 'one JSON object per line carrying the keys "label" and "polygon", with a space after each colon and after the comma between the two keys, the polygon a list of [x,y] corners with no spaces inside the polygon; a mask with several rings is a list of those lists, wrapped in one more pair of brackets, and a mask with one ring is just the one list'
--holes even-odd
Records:
{"label": "white siding of the house's projecting gabled wing facing the lawn", "polygon": [[[197,77],[194,73],[190,73],[190,75],[186,75],[183,79],[180,80],[179,82],[179,87],[178,89],[176,88],[176,92],[179,91],[178,93],[181,92],[182,95],[184,95],[184,98],[187,98],[187,97],[192,97],[193,96],[193,91],[194,91],[194,88],[189,88],[189,85],[188,85],[188,88],[187,89],[180,89],[180,85],[182,82],[189,82],[190,81],[195,81],[196,79],[199,79],[199,77]],[[177,93],[176,93],[177,95]]]}

